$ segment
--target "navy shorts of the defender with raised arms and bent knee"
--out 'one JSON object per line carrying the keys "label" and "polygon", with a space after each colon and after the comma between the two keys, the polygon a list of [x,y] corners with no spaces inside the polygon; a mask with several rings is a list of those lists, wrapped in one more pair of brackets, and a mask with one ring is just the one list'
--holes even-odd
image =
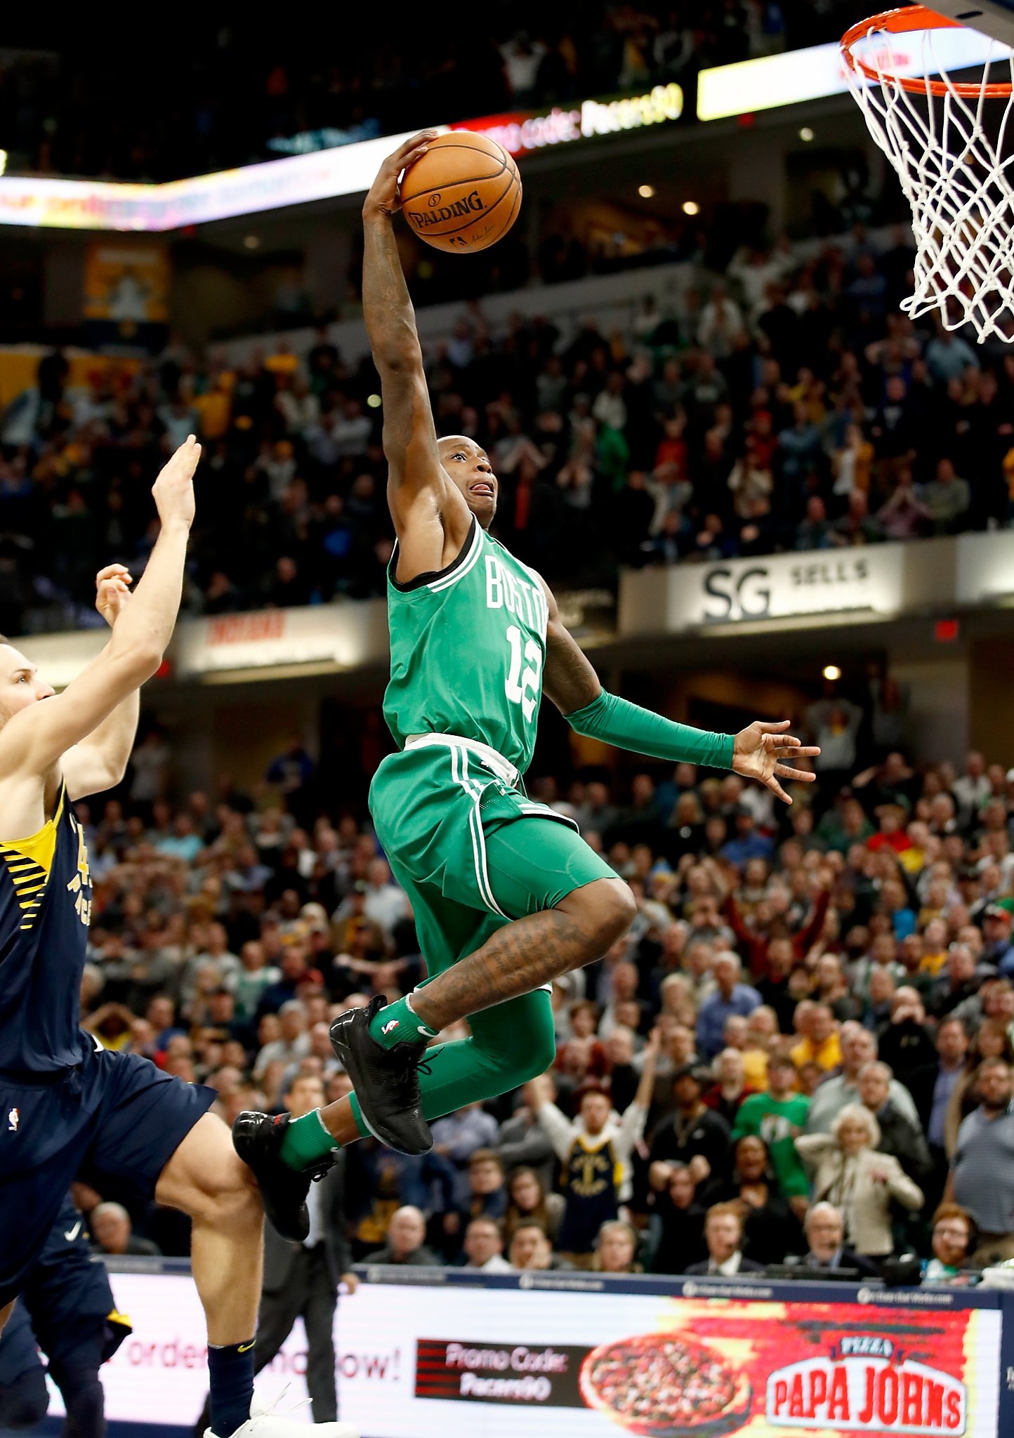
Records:
{"label": "navy shorts of the defender with raised arms and bent knee", "polygon": [[0,1073],[0,1307],[42,1255],[73,1179],[104,1198],[148,1201],[216,1097],[108,1050],[56,1081]]}

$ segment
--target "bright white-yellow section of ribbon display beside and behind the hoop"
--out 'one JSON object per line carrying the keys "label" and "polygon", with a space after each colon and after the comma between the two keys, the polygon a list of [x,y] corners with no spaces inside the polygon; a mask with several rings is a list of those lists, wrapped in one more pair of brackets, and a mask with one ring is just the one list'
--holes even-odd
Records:
{"label": "bright white-yellow section of ribbon display beside and behind the hoop", "polygon": [[[892,68],[896,75],[926,72],[919,37],[913,35],[910,39],[910,52],[905,52],[900,37],[895,39]],[[990,36],[978,30],[946,30],[938,32],[933,53],[948,70],[958,70],[985,65],[991,46]],[[992,55],[995,58],[995,46]],[[805,50],[762,55],[755,60],[702,70],[698,76],[698,119],[726,119],[755,109],[798,105],[805,99],[844,95],[847,89],[837,40],[811,45]]]}

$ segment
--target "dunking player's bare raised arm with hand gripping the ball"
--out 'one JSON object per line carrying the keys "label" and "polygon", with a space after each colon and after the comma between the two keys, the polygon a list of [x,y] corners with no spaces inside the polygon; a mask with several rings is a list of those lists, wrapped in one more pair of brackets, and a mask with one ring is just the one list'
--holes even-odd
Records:
{"label": "dunking player's bare raised arm with hand gripping the ball", "polygon": [[[398,175],[426,152],[433,131],[423,131],[388,155],[362,206],[362,318],[384,403],[387,499],[398,535],[398,578],[442,569],[467,533],[465,505],[453,490],[437,454],[416,312],[408,298],[394,240],[393,216],[400,207]],[[450,512],[453,533],[444,531]]]}

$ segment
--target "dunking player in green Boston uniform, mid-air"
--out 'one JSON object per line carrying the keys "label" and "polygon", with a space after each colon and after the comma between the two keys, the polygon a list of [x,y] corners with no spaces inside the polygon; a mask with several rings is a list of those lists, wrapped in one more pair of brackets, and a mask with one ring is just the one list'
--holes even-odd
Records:
{"label": "dunking player in green Boston uniform, mid-air", "polygon": [[[630,889],[575,825],[524,791],[544,692],[578,733],[731,768],[785,801],[780,779],[813,778],[785,761],[818,752],[787,735],[787,722],[705,733],[606,693],[547,584],[490,538],[496,477],[475,440],[436,437],[394,240],[398,175],[431,134],[383,164],[362,211],[362,309],[397,532],[384,716],[398,752],[377,769],[370,810],[430,976],[394,1004],[377,997],[335,1020],[332,1047],[355,1084],[348,1099],[289,1125],[236,1120],[233,1140],[268,1212],[292,1232],[308,1171],[337,1146],[373,1133],[426,1153],[429,1119],[544,1073],[555,1051],[552,979],[601,958],[634,916]],[[427,1047],[462,1018],[470,1038]]]}

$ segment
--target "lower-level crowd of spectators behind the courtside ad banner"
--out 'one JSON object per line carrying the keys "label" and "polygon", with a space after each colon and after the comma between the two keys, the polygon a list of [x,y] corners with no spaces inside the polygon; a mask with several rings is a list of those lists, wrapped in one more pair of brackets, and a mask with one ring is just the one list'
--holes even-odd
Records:
{"label": "lower-level crowd of spectators behind the courtside ad banner", "polygon": [[[833,697],[807,715],[816,738],[849,722]],[[427,1156],[345,1150],[355,1258],[890,1276],[916,1254],[968,1281],[1014,1257],[1014,769],[847,759],[791,808],[685,764],[534,784],[637,917],[555,985],[547,1074],[437,1120]],[[177,808],[168,764],[152,732],[122,797],[81,807],[85,1027],[213,1086],[226,1120],[341,1097],[329,1020],[426,972],[365,814],[321,811],[306,754]],[[157,1206],[92,1228],[186,1252]]]}

